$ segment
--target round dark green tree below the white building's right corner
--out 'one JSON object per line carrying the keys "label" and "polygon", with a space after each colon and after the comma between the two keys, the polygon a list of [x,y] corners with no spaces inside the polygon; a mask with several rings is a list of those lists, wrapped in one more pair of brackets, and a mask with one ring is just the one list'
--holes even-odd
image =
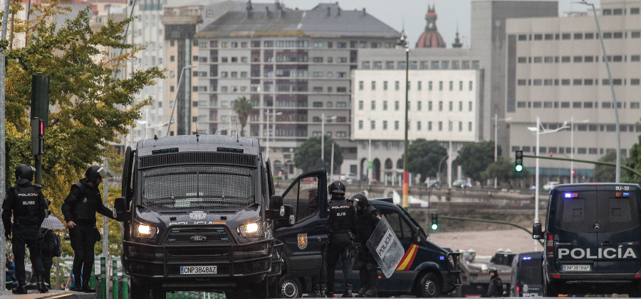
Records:
{"label": "round dark green tree below the white building's right corner", "polygon": [[[501,156],[500,146],[497,153]],[[463,173],[469,178],[481,181],[484,178],[483,172],[494,163],[494,141],[467,143],[459,150],[459,156],[454,162],[461,165]]]}

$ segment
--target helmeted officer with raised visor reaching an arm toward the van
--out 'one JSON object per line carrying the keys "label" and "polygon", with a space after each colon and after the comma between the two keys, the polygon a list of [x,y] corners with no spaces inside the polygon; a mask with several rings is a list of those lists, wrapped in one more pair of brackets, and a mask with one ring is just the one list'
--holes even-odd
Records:
{"label": "helmeted officer with raised visor reaching an arm toward the van", "polygon": [[72,270],[75,290],[85,293],[95,293],[95,289],[89,288],[89,277],[93,268],[93,245],[100,241],[100,232],[95,227],[95,213],[115,219],[113,211],[103,205],[100,196],[98,185],[103,178],[111,178],[111,174],[98,165],[90,166],[85,178],[71,185],[71,192],[62,205],[71,237],[71,248],[75,254]]}

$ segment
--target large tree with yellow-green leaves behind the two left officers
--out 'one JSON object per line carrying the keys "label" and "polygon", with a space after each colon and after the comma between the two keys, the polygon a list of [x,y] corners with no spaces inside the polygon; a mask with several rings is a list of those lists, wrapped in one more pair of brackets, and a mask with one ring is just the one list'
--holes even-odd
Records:
{"label": "large tree with yellow-green leaves behind the two left officers", "polygon": [[[31,20],[15,28],[28,32],[26,46],[7,52],[6,183],[12,185],[17,165],[33,164],[28,122],[31,75],[42,72],[50,76],[53,106],[45,129],[43,193],[52,200],[50,210],[61,217],[71,184],[82,178],[88,165],[100,163],[103,156],[116,156],[111,144],[119,143],[133,121],[140,119],[140,109],[150,104],[148,98],[138,101],[137,94],[163,75],[158,67],[150,67],[135,69],[125,79],[118,77],[119,62],[141,49],[122,42],[131,19],[110,20],[94,32],[88,6],[57,26],[54,19],[65,10],[59,3],[33,4],[36,13]],[[110,49],[121,48],[123,55],[110,55]]]}

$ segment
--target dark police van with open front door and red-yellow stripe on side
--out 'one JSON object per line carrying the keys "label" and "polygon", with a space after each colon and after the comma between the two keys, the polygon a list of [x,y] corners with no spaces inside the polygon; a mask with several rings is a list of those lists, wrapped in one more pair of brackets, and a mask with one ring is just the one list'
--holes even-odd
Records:
{"label": "dark police van with open front door and red-yellow stripe on side", "polygon": [[[281,227],[275,232],[276,238],[283,242],[284,260],[278,295],[296,298],[311,290],[309,277],[318,273],[323,261],[320,249],[327,244],[325,170],[304,173],[296,178],[284,192],[283,203],[292,207],[295,216],[291,227]],[[428,241],[427,234],[415,219],[399,205],[392,204],[391,198],[371,200],[370,203],[387,219],[405,249],[405,256],[390,278],[385,278],[379,271],[379,295],[438,297],[460,286],[459,253],[448,252]],[[345,288],[341,268],[337,266],[335,271],[335,293],[342,293]],[[353,289],[358,290],[358,260],[353,260],[353,283]]]}

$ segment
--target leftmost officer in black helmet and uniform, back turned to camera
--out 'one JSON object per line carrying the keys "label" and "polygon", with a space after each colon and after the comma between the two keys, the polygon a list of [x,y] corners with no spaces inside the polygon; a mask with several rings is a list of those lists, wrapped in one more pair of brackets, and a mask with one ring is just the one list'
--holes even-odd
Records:
{"label": "leftmost officer in black helmet and uniform, back turned to camera", "polygon": [[[48,291],[45,285],[45,271],[42,266],[40,248],[40,226],[46,217],[48,205],[42,194],[42,186],[31,184],[33,173],[36,173],[33,166],[19,165],[16,168],[16,185],[6,193],[2,203],[4,237],[9,240],[11,232],[14,234],[11,245],[16,262],[16,277],[18,278],[18,287],[14,288],[14,294],[27,293],[24,273],[25,244],[29,246],[31,264],[38,278],[38,290],[40,293]],[[11,212],[14,214],[13,223],[11,223]]]}

